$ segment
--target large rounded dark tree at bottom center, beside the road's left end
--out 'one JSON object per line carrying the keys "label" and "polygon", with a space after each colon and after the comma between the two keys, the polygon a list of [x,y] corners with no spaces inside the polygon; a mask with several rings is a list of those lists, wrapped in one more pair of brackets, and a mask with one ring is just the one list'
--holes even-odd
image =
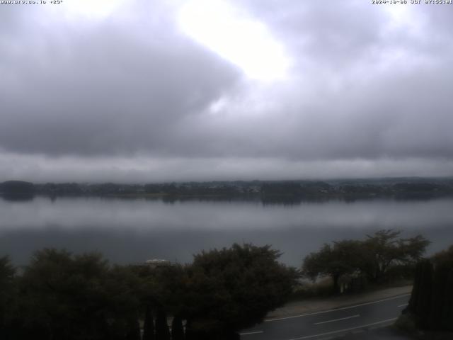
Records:
{"label": "large rounded dark tree at bottom center, beside the road's left end", "polygon": [[283,305],[295,274],[277,262],[279,257],[270,246],[251,244],[195,255],[186,268],[186,337],[231,339]]}

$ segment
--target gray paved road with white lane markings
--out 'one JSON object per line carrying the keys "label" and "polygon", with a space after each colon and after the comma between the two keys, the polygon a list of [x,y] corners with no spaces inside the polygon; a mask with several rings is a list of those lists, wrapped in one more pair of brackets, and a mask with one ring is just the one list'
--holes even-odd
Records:
{"label": "gray paved road with white lane markings", "polygon": [[336,310],[268,319],[241,332],[241,340],[321,340],[392,324],[410,294]]}

